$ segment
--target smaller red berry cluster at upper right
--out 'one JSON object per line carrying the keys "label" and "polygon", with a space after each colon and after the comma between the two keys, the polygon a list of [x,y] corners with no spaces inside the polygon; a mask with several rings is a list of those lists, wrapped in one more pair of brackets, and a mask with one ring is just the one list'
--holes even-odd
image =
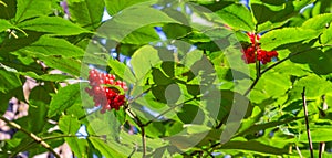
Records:
{"label": "smaller red berry cluster at upper right", "polygon": [[[247,64],[255,63],[256,59],[261,61],[262,64],[267,64],[271,62],[272,57],[277,57],[277,51],[264,51],[260,49],[258,41],[260,35],[256,35],[255,33],[248,32],[247,35],[250,38],[251,45],[243,50],[242,59]],[[256,53],[257,52],[257,53]],[[256,53],[256,54],[255,54]]]}

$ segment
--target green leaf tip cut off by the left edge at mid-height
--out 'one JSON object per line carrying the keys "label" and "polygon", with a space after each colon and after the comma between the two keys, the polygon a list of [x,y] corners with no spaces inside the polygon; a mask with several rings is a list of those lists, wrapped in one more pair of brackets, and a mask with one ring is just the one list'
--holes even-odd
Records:
{"label": "green leaf tip cut off by the left edge at mid-height", "polygon": [[22,83],[17,74],[0,67],[0,92],[7,93],[21,85]]}

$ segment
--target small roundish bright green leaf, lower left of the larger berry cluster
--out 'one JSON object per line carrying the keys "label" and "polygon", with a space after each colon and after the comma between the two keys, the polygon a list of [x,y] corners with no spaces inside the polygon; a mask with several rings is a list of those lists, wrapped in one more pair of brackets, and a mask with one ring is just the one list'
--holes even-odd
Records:
{"label": "small roundish bright green leaf, lower left of the larger berry cluster", "polygon": [[64,115],[59,119],[59,128],[64,134],[75,135],[80,127],[81,123],[79,122],[77,117]]}

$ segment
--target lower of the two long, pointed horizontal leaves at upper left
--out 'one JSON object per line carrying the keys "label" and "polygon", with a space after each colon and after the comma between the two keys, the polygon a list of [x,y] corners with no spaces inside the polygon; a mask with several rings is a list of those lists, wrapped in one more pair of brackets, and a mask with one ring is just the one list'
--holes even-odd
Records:
{"label": "lower of the two long, pointed horizontal leaves at upper left", "polygon": [[62,56],[83,56],[84,51],[70,42],[50,36],[41,36],[37,42],[21,49],[29,53],[40,53],[43,55],[62,55]]}

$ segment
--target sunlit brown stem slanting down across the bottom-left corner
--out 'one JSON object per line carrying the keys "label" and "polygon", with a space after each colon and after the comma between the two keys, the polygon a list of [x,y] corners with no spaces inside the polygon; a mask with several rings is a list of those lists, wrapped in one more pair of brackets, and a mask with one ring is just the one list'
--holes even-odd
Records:
{"label": "sunlit brown stem slanting down across the bottom-left corner", "polygon": [[6,124],[8,124],[9,126],[17,128],[18,130],[21,130],[22,133],[27,134],[29,137],[31,137],[35,143],[40,144],[41,146],[43,146],[45,149],[48,149],[50,152],[52,152],[56,158],[60,158],[60,156],[52,149],[52,147],[46,144],[42,138],[35,136],[33,133],[28,131],[27,129],[22,128],[20,125],[18,125],[14,122],[11,122],[9,119],[7,119],[3,116],[0,116],[0,119],[3,120]]}

